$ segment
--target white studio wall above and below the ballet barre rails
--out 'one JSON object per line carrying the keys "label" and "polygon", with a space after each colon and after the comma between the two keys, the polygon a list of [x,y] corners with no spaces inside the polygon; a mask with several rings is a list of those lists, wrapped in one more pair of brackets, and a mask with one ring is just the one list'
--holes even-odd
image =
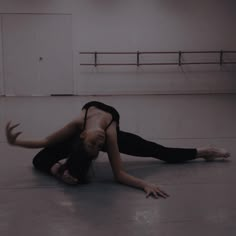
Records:
{"label": "white studio wall above and below the ballet barre rails", "polygon": [[79,66],[79,51],[236,50],[232,0],[1,0],[1,13],[71,13],[77,94],[236,92],[235,66]]}

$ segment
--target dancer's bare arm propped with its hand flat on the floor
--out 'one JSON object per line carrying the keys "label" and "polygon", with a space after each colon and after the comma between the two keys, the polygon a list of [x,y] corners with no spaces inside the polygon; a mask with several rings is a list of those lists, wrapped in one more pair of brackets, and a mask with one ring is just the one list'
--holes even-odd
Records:
{"label": "dancer's bare arm propped with its hand flat on the floor", "polygon": [[124,171],[117,143],[116,124],[113,123],[107,130],[107,152],[115,179],[125,185],[142,189],[146,197],[153,195],[155,198],[166,198],[169,195],[153,184],[129,175]]}

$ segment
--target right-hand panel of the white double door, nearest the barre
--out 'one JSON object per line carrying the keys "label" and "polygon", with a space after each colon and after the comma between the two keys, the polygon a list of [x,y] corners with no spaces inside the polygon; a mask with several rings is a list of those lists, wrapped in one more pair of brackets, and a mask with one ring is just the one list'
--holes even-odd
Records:
{"label": "right-hand panel of the white double door, nearest the barre", "polygon": [[43,94],[73,93],[70,15],[41,15],[39,26],[40,85]]}

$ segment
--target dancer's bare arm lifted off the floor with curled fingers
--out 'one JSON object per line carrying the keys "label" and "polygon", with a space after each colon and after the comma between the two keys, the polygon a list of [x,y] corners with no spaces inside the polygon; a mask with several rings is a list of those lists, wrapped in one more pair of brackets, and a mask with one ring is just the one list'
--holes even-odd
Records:
{"label": "dancer's bare arm lifted off the floor with curled fingers", "polygon": [[41,140],[22,140],[18,137],[22,132],[13,132],[13,130],[18,127],[20,124],[12,125],[11,122],[8,122],[6,125],[6,137],[7,142],[13,146],[19,146],[24,148],[43,148],[54,143],[63,141],[64,139],[73,135],[78,129],[80,129],[80,119],[76,119],[68,123],[62,129],[56,131],[55,133],[43,138]]}

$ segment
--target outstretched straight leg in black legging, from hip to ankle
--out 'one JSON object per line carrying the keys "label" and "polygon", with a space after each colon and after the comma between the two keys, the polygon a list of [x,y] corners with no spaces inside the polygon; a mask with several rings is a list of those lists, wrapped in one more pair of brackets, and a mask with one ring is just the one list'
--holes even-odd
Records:
{"label": "outstretched straight leg in black legging, from hip to ankle", "polygon": [[185,162],[197,158],[197,149],[164,147],[124,131],[118,131],[117,138],[120,152],[127,155],[154,157],[168,163]]}

